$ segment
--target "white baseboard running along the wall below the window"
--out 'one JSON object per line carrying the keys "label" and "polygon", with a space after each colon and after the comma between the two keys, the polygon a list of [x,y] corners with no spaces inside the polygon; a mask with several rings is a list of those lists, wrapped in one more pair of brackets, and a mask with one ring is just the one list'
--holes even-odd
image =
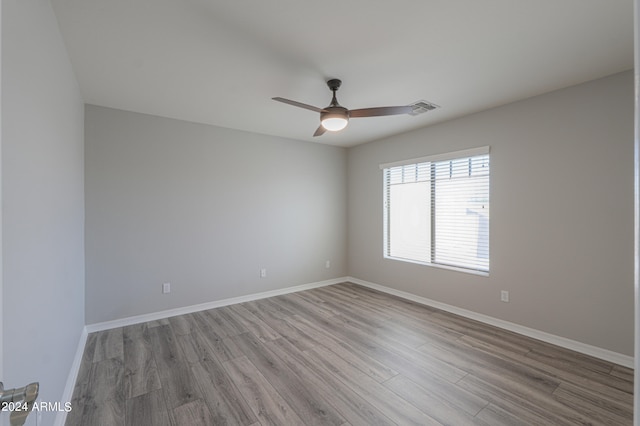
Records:
{"label": "white baseboard running along the wall below the window", "polygon": [[346,280],[354,284],[361,285],[363,287],[368,287],[374,290],[381,291],[383,293],[392,294],[394,296],[411,300],[413,302],[420,303],[422,305],[431,306],[437,309],[441,309],[443,311],[450,312],[452,314],[460,315],[462,317],[480,321],[485,324],[489,324],[505,330],[513,331],[514,333],[518,333],[527,337],[542,340],[543,342],[551,343],[553,345],[570,349],[576,352],[580,352],[585,355],[589,355],[598,359],[609,361],[614,364],[622,365],[628,368],[634,368],[634,358],[632,356],[623,355],[618,352],[610,351],[608,349],[599,348],[597,346],[588,345],[586,343],[578,342],[576,340],[571,340],[565,337],[556,336],[554,334],[545,333],[544,331],[536,330],[529,327],[524,327],[522,325],[515,324],[509,321],[493,318],[488,315],[479,314],[477,312],[458,308],[456,306],[447,305],[446,303],[437,302],[435,300],[427,299],[426,297],[416,296],[415,294],[407,293],[401,290],[396,290],[390,287],[385,287],[383,285],[375,284],[369,281],[364,281],[358,278],[347,277]]}

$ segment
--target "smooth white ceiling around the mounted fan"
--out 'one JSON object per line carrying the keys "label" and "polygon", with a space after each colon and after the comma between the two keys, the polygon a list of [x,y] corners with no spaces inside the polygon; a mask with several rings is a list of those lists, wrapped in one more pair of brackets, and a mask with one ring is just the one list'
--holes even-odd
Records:
{"label": "smooth white ceiling around the mounted fan", "polygon": [[[632,0],[52,0],[89,104],[354,146],[633,67]],[[313,138],[347,108],[427,100]]]}

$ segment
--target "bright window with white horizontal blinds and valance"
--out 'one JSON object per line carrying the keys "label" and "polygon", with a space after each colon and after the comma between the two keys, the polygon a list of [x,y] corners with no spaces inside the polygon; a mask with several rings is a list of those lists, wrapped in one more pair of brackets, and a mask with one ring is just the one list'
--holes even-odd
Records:
{"label": "bright window with white horizontal blinds and valance", "polygon": [[380,168],[385,257],[489,272],[489,147]]}

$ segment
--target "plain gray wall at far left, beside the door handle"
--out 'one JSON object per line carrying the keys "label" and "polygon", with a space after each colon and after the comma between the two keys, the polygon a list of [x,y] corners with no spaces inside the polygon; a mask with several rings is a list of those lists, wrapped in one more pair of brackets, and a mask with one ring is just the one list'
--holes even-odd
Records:
{"label": "plain gray wall at far left, beside the door handle", "polygon": [[0,379],[51,402],[84,326],[83,111],[50,3],[3,1]]}

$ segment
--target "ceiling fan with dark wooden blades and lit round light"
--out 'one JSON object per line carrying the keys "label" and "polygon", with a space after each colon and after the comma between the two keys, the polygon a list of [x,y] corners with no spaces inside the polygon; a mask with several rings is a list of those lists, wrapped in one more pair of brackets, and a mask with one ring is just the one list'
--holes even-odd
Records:
{"label": "ceiling fan with dark wooden blades and lit round light", "polygon": [[330,132],[337,132],[345,127],[349,123],[350,118],[358,117],[380,117],[383,115],[398,115],[398,114],[411,114],[413,112],[412,106],[396,106],[396,107],[375,107],[375,108],[360,108],[360,109],[346,109],[338,103],[336,99],[336,91],[340,88],[342,81],[337,78],[327,81],[327,86],[333,92],[333,98],[328,107],[318,108],[313,105],[303,104],[301,102],[292,101],[285,98],[272,98],[274,101],[284,102],[285,104],[297,106],[299,108],[308,109],[311,111],[320,113],[320,126],[316,129],[313,136],[320,136],[327,130]]}

